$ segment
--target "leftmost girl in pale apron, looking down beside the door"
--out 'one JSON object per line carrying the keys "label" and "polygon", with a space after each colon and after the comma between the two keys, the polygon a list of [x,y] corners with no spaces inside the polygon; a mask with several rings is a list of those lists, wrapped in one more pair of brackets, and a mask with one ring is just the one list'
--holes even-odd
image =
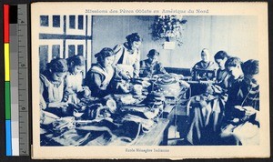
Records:
{"label": "leftmost girl in pale apron, looking down beside the door", "polygon": [[46,65],[40,75],[40,107],[56,116],[67,116],[68,103],[64,102],[67,74],[66,59],[56,58]]}

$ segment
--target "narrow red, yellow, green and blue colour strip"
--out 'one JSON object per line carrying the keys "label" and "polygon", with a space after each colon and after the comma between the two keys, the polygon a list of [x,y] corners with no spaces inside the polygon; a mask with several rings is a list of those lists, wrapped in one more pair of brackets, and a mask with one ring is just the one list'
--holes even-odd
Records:
{"label": "narrow red, yellow, green and blue colour strip", "polygon": [[4,57],[5,57],[5,155],[12,156],[9,56],[9,5],[4,5]]}

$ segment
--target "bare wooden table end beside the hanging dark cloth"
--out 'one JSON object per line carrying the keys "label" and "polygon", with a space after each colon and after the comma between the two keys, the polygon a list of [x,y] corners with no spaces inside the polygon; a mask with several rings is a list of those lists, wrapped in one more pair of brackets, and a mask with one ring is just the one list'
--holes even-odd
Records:
{"label": "bare wooden table end beside the hanging dark cloth", "polygon": [[136,138],[136,146],[167,146],[169,120],[160,118],[157,127]]}

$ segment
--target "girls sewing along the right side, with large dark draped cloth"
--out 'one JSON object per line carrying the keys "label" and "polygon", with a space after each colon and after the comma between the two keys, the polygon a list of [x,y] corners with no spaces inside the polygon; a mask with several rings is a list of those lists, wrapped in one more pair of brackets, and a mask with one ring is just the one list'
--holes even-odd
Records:
{"label": "girls sewing along the right side, with large dark draped cloth", "polygon": [[242,62],[219,51],[216,84],[193,96],[187,142],[190,145],[258,145],[258,60]]}

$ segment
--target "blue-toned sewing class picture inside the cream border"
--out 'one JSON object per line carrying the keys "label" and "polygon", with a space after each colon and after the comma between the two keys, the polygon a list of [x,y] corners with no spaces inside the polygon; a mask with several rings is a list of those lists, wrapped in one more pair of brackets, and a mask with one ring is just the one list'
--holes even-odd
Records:
{"label": "blue-toned sewing class picture inside the cream border", "polygon": [[41,147],[260,144],[258,16],[39,19]]}

